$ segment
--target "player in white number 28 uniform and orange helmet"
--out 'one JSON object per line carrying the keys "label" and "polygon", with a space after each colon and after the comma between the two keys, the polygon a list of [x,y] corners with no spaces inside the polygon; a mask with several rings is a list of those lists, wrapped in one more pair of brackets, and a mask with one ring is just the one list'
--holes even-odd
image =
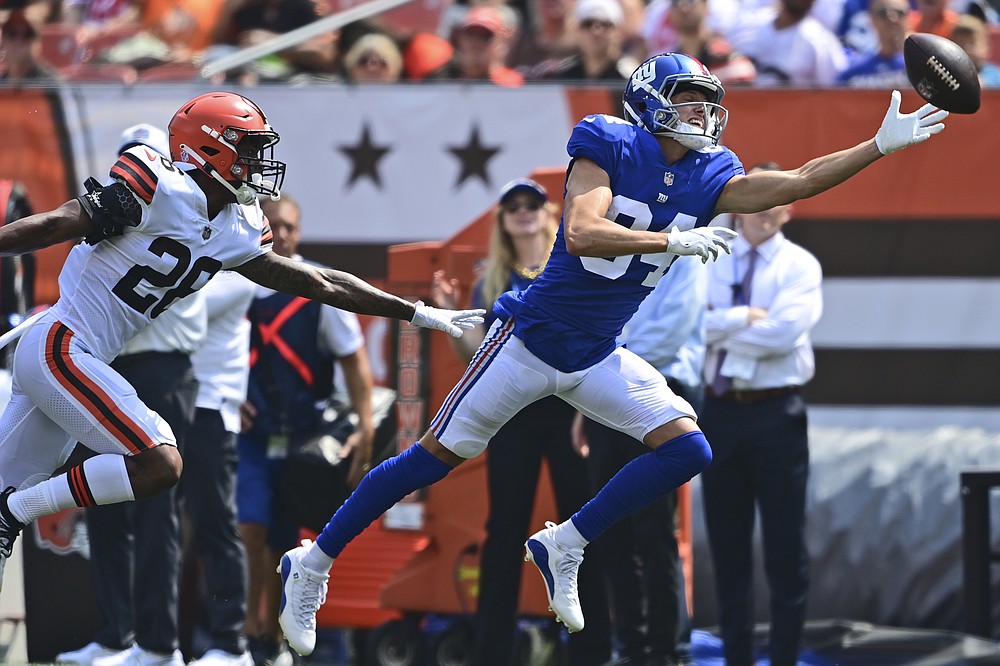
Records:
{"label": "player in white number 28 uniform and orange helmet", "polygon": [[[126,502],[177,483],[181,457],[166,422],[108,363],[179,298],[231,269],[277,291],[403,319],[456,337],[482,310],[410,303],[359,278],[270,252],[257,195],[279,197],[278,134],[237,94],[208,93],[170,121],[167,159],[123,153],[114,182],[0,228],[0,254],[85,238],[59,276],[59,301],[26,322],[13,396],[0,417],[0,575],[15,538],[39,516]],[[264,154],[267,151],[268,157]],[[79,441],[98,455],[49,478]]]}

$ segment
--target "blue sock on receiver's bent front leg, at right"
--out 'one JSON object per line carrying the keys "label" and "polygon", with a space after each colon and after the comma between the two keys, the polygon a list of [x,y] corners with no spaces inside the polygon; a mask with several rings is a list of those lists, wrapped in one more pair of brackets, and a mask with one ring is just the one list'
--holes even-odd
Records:
{"label": "blue sock on receiver's bent front leg, at right", "polygon": [[618,470],[570,520],[584,539],[593,541],[622,518],[690,481],[710,462],[712,449],[700,430],[675,437]]}

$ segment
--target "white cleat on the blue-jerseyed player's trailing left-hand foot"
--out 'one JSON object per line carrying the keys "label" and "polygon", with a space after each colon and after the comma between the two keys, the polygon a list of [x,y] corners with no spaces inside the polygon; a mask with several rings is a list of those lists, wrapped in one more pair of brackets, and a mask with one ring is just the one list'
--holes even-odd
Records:
{"label": "white cleat on the blue-jerseyed player's trailing left-hand foot", "polygon": [[281,606],[278,624],[288,645],[303,657],[316,649],[316,611],[326,601],[329,574],[302,566],[302,557],[312,544],[308,539],[281,556]]}

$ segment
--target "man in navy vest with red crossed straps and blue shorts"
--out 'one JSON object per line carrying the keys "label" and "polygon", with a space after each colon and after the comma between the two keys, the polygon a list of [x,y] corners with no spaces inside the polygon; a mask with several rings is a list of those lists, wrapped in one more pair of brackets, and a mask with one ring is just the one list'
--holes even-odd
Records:
{"label": "man in navy vest with red crossed straps and blue shorts", "polygon": [[[283,193],[280,201],[267,199],[262,208],[274,233],[274,252],[302,261],[297,254],[298,203]],[[291,658],[278,628],[280,579],[274,575],[281,554],[298,543],[299,526],[289,524],[281,510],[289,437],[318,424],[333,392],[338,360],[359,417],[343,449],[345,457],[354,451],[348,485],[357,485],[367,471],[375,437],[372,377],[361,325],[352,313],[261,290],[250,306],[250,322],[250,384],[238,442],[236,492],[249,571],[247,639],[254,663],[273,666]]]}

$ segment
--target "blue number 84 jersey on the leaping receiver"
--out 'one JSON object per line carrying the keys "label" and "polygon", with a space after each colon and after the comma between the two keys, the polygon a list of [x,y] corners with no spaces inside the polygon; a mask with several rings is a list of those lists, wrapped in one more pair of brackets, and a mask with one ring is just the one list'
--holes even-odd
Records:
{"label": "blue number 84 jersey on the leaping receiver", "polygon": [[[656,138],[612,116],[587,116],[573,129],[573,160],[596,162],[611,178],[607,217],[623,227],[667,232],[707,225],[722,188],[743,165],[728,148],[689,150],[667,164]],[[572,163],[570,165],[572,168]],[[617,346],[622,327],[675,255],[577,257],[559,225],[545,271],[521,293],[507,292],[494,311],[514,317],[514,335],[531,353],[563,372],[588,368]]]}

